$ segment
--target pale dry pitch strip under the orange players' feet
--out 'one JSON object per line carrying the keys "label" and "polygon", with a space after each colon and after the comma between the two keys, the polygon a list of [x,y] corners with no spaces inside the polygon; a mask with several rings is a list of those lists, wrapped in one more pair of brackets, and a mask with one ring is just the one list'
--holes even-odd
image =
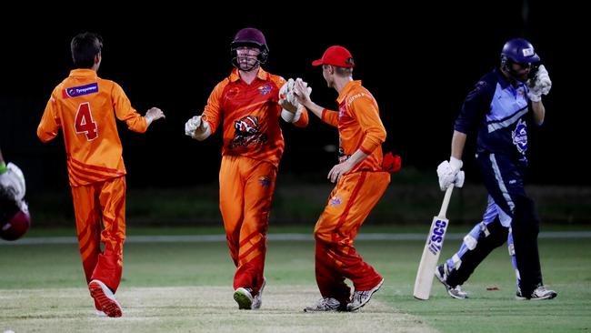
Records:
{"label": "pale dry pitch strip under the orange players' feet", "polygon": [[15,332],[435,332],[372,299],[354,313],[306,313],[316,288],[265,288],[263,307],[238,310],[232,288],[121,288],[122,318],[95,316],[84,288],[0,289],[0,331]]}

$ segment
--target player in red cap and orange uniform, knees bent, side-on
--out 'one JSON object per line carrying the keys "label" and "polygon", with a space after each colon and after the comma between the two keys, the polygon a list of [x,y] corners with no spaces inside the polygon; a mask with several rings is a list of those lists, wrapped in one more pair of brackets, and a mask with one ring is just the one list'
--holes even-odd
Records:
{"label": "player in red cap and orange uniform, knees bent, side-on", "polygon": [[[386,129],[374,96],[361,81],[353,80],[355,63],[345,47],[329,47],[312,65],[322,66],[328,87],[338,92],[338,111],[312,102],[301,79],[295,80],[296,99],[326,124],[338,128],[340,146],[339,163],[328,173],[336,187],[314,230],[316,283],[322,299],[305,311],[355,311],[384,283],[376,269],[356,253],[353,242],[390,183],[390,174],[382,166]],[[352,297],[346,278],[355,287]]]}

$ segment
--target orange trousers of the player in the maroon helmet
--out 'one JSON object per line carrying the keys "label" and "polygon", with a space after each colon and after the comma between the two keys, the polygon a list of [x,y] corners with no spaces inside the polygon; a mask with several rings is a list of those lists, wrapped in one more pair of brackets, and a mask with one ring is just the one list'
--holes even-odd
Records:
{"label": "orange trousers of the player in the maroon helmet", "polygon": [[220,166],[220,210],[225,238],[236,266],[234,288],[263,284],[266,231],[277,169],[245,156],[223,156]]}

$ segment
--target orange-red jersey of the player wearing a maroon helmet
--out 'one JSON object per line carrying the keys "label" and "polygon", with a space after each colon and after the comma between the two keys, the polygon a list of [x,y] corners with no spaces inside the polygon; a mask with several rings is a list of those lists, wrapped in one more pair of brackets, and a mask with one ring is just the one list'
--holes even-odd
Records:
{"label": "orange-red jersey of the player wearing a maroon helmet", "polygon": [[[207,100],[203,118],[212,134],[222,123],[224,147],[222,155],[246,156],[279,165],[285,143],[279,127],[279,89],[285,79],[259,68],[255,80],[247,85],[235,68],[218,83]],[[306,109],[294,123],[308,124]]]}

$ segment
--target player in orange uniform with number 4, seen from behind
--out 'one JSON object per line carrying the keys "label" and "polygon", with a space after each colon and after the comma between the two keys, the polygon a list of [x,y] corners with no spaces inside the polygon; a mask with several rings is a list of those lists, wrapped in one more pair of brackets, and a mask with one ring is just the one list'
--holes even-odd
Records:
{"label": "player in orange uniform with number 4, seen from behind", "polygon": [[144,133],[164,114],[153,107],[140,116],[121,86],[96,76],[102,47],[100,35],[72,39],[75,69],[51,94],[37,136],[47,142],[63,131],[86,283],[97,315],[121,317],[115,291],[123,267],[126,172],[115,116],[132,131]]}

